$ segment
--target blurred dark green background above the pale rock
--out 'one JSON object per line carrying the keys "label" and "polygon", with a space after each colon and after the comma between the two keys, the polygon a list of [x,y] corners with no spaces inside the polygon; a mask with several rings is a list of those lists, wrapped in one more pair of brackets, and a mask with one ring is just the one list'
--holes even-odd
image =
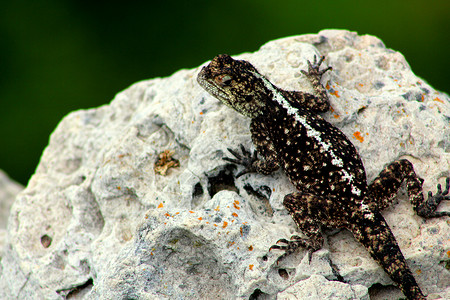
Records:
{"label": "blurred dark green background above the pale rock", "polygon": [[450,1],[3,1],[0,169],[26,184],[64,115],[218,53],[340,28],[372,34],[449,92]]}

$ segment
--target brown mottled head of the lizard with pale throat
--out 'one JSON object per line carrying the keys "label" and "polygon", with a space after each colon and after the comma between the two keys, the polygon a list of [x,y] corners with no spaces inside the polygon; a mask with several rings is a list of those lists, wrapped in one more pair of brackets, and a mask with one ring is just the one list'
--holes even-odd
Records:
{"label": "brown mottled head of the lizard with pale throat", "polygon": [[255,118],[265,108],[262,75],[248,61],[216,56],[200,71],[197,81],[208,93],[239,113]]}

